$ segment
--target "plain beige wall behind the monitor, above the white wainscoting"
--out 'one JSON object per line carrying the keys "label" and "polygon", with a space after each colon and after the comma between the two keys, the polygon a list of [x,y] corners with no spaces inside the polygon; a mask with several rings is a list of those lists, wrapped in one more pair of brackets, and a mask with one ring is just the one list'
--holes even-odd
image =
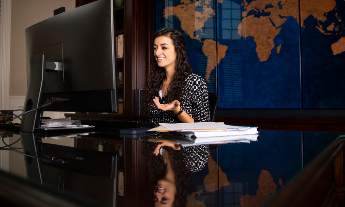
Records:
{"label": "plain beige wall behind the monitor, above the white wainscoting", "polygon": [[12,0],[10,51],[10,96],[25,96],[26,55],[25,29],[52,17],[53,11],[76,7],[75,0]]}

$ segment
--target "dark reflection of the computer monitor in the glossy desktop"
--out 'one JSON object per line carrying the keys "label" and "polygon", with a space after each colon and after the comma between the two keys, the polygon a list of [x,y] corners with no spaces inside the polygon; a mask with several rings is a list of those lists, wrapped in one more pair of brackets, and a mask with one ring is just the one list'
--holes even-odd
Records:
{"label": "dark reflection of the computer monitor in the glossy desktop", "polygon": [[[20,132],[27,176],[43,187],[66,196],[86,196],[106,206],[116,206],[119,156],[40,141]],[[78,197],[79,197],[78,196]]]}

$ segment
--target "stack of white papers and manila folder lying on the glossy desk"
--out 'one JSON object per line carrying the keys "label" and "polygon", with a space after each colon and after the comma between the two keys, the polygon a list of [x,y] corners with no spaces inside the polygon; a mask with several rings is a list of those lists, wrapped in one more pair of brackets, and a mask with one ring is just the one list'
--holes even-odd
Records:
{"label": "stack of white papers and manila folder lying on the glossy desk", "polygon": [[218,136],[235,136],[235,135],[252,135],[258,134],[257,127],[243,127],[225,125],[216,122],[194,122],[165,124],[159,123],[159,127],[152,128],[150,131],[172,132],[185,137],[218,137]]}

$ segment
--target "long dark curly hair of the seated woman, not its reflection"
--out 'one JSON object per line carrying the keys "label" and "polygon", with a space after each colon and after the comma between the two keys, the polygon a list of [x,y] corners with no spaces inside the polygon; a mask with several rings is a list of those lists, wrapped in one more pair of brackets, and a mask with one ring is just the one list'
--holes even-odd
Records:
{"label": "long dark curly hair of the seated woman, not its reflection", "polygon": [[[185,79],[188,73],[192,72],[192,69],[189,65],[186,53],[186,41],[183,37],[183,34],[175,29],[161,29],[157,31],[152,36],[152,42],[155,41],[157,37],[166,36],[172,40],[172,44],[175,47],[176,52],[176,62],[175,62],[175,72],[171,83],[168,87],[168,96],[165,100],[167,103],[170,103],[173,100],[182,101],[183,91],[181,90],[185,84]],[[153,103],[152,99],[158,95],[159,90],[161,89],[161,84],[166,78],[164,68],[158,66],[156,58],[153,53],[151,53],[151,63],[150,70],[144,85],[143,90],[143,102],[142,109],[144,109],[145,114],[151,109]]]}

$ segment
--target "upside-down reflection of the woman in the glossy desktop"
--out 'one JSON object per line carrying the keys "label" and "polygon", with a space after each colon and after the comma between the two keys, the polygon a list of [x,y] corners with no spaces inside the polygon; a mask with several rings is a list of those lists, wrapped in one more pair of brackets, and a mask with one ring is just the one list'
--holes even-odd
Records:
{"label": "upside-down reflection of the woman in the glossy desktop", "polygon": [[157,142],[142,140],[142,154],[147,160],[150,180],[154,186],[155,207],[186,205],[188,181],[192,172],[205,167],[208,152],[205,145],[181,148],[172,143],[157,145]]}

